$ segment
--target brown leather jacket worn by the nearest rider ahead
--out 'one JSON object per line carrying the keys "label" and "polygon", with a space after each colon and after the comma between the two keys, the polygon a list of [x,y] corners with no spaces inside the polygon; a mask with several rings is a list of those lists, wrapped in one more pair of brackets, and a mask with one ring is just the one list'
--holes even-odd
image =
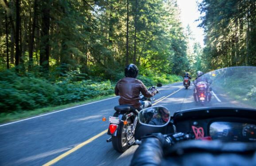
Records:
{"label": "brown leather jacket worn by the nearest rider ahead", "polygon": [[155,95],[154,92],[147,91],[144,83],[142,83],[139,79],[132,77],[120,79],[115,87],[115,94],[120,96],[120,105],[129,104],[135,108],[139,108],[141,106],[139,96],[140,92],[147,98]]}

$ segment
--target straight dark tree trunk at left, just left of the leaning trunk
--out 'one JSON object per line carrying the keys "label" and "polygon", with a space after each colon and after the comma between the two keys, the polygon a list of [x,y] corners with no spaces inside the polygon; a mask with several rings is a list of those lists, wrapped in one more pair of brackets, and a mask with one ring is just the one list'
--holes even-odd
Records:
{"label": "straight dark tree trunk at left, just left of the leaning trunk", "polygon": [[[15,35],[15,45],[16,45],[16,53],[15,53],[15,66],[19,65],[20,51],[19,51],[19,0],[16,0],[16,35]],[[16,71],[19,72],[19,69],[16,68]]]}

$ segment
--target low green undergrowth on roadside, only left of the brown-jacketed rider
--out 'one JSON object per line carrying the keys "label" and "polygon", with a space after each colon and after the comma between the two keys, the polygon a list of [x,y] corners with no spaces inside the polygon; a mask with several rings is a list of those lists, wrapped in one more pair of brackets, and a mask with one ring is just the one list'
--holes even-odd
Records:
{"label": "low green undergrowth on roadside, only left of the brown-jacketed rider", "polygon": [[110,81],[96,82],[81,80],[76,82],[67,76],[63,81],[50,83],[31,73],[20,76],[5,71],[0,75],[0,107],[2,112],[30,110],[45,106],[57,106],[70,102],[113,94]]}

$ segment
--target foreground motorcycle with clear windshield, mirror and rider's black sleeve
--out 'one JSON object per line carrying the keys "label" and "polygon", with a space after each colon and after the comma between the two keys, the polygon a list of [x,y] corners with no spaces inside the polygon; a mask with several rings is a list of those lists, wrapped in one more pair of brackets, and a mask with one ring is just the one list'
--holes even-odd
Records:
{"label": "foreground motorcycle with clear windshield, mirror and rider's black sleeve", "polygon": [[181,104],[190,109],[173,115],[164,106],[141,110],[135,135],[140,146],[131,165],[256,165],[256,103],[254,95],[248,97],[248,91],[255,94],[255,82],[252,75],[240,77],[248,71],[255,75],[256,67],[214,71],[218,78],[211,86],[222,97],[217,106],[202,108],[185,101]]}

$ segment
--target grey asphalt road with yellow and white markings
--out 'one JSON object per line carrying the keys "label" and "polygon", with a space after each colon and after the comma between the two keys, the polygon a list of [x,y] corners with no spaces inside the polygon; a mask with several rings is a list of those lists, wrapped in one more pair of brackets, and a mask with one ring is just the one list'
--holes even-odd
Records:
{"label": "grey asphalt road with yellow and white markings", "polygon": [[[155,105],[165,106],[171,113],[193,108],[193,89],[185,90],[182,83],[163,86],[161,94],[155,95]],[[225,99],[215,94],[210,105],[221,106]],[[0,166],[37,166],[52,161],[56,166],[128,166],[137,145],[123,154],[116,152],[112,143],[106,143],[109,123],[101,121],[113,115],[118,98],[0,125]]]}

